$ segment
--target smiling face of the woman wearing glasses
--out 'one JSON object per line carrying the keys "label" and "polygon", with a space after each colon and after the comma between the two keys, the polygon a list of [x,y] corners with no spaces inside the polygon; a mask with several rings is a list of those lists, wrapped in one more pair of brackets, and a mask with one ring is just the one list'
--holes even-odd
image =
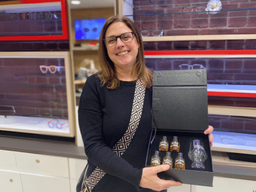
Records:
{"label": "smiling face of the woman wearing glasses", "polygon": [[[105,38],[108,36],[119,36],[127,32],[132,32],[132,29],[128,28],[124,22],[114,22],[108,27]],[[120,38],[117,38],[116,41],[116,45],[112,47],[106,46],[109,58],[115,64],[116,69],[132,68],[139,48],[136,36],[133,35],[133,39],[129,43],[122,42]]]}

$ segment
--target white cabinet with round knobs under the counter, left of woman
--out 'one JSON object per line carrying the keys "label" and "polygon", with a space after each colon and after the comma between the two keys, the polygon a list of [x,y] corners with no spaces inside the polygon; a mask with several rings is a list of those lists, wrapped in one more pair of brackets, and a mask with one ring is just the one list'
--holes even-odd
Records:
{"label": "white cabinet with round knobs under the counter, left of woman", "polygon": [[[86,159],[0,150],[3,191],[76,191]],[[3,161],[1,161],[3,159]],[[9,163],[6,161],[10,161]]]}

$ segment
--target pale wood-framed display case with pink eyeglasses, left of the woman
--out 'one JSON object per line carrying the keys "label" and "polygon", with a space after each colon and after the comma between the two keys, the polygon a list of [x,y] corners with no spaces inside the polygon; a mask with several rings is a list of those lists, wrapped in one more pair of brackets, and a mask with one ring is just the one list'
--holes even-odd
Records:
{"label": "pale wood-framed display case with pink eyeglasses, left of the woman", "polygon": [[0,52],[0,130],[73,138],[71,70],[69,52]]}

